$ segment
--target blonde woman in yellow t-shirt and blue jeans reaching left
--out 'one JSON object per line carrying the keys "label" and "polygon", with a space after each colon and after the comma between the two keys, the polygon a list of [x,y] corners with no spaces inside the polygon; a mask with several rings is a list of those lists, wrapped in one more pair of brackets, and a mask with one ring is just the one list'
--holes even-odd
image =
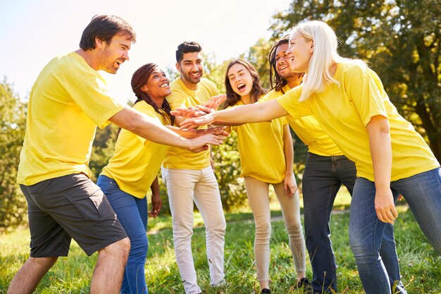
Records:
{"label": "blonde woman in yellow t-shirt and blue jeans reaching left", "polygon": [[390,281],[379,255],[383,234],[387,223],[398,217],[395,200],[402,194],[429,243],[441,252],[440,164],[423,137],[398,114],[378,75],[363,62],[337,54],[337,37],[328,25],[297,25],[288,51],[291,68],[307,74],[304,85],[275,101],[190,118],[181,126],[215,120],[251,123],[287,114],[294,119],[316,116],[356,164],[349,241],[364,290],[406,293],[401,281]]}

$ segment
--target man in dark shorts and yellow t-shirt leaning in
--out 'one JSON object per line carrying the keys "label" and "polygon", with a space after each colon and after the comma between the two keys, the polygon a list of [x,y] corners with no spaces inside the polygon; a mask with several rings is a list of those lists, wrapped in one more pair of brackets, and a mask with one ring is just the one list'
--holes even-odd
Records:
{"label": "man in dark shorts and yellow t-shirt leaning in", "polygon": [[18,183],[28,204],[30,257],[9,294],[32,293],[72,238],[87,255],[99,252],[90,293],[118,293],[130,242],[88,167],[97,126],[113,122],[137,135],[194,151],[216,136],[187,140],[110,97],[98,71],[116,73],[135,42],[130,24],[95,16],[80,49],[51,60],[30,93]]}

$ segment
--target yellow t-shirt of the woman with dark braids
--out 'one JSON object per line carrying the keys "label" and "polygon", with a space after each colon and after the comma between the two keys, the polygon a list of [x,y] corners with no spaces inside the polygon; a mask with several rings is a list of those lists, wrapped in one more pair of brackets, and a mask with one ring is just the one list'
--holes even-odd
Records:
{"label": "yellow t-shirt of the woman with dark braids", "polygon": [[[170,124],[147,102],[138,102],[133,109],[147,114],[163,125]],[[113,157],[108,161],[101,175],[113,178],[124,192],[143,198],[158,176],[167,148],[166,145],[145,140],[123,129],[116,141]]]}

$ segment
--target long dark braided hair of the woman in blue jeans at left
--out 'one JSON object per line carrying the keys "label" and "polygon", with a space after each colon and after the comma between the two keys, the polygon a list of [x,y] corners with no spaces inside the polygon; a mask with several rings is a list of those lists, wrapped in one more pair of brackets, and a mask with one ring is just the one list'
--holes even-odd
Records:
{"label": "long dark braided hair of the woman in blue jeans at left", "polygon": [[[144,64],[144,66],[141,66],[138,68],[135,73],[132,75],[132,91],[135,93],[135,96],[137,97],[137,100],[135,101],[135,104],[138,102],[141,102],[144,100],[147,102],[147,104],[151,105],[154,110],[161,114],[161,116],[164,116],[162,111],[165,111],[166,114],[170,117],[171,125],[175,123],[175,116],[170,114],[171,107],[170,104],[168,104],[167,99],[164,99],[161,108],[159,108],[153,100],[151,100],[149,94],[142,91],[142,87],[147,83],[147,80],[149,80],[151,73],[153,73],[154,68],[158,67],[155,63],[147,63]],[[168,119],[166,119],[168,121]]]}

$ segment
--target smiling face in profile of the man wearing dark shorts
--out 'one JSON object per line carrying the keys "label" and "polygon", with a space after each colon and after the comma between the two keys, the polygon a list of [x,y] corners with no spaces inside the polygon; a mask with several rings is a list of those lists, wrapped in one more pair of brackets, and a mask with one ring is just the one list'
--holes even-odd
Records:
{"label": "smiling face in profile of the man wearing dark shorts", "polygon": [[98,46],[101,48],[99,54],[99,67],[101,71],[107,73],[116,73],[120,68],[121,63],[129,60],[129,50],[132,44],[132,39],[128,35],[115,35],[111,39],[111,42],[101,42]]}

